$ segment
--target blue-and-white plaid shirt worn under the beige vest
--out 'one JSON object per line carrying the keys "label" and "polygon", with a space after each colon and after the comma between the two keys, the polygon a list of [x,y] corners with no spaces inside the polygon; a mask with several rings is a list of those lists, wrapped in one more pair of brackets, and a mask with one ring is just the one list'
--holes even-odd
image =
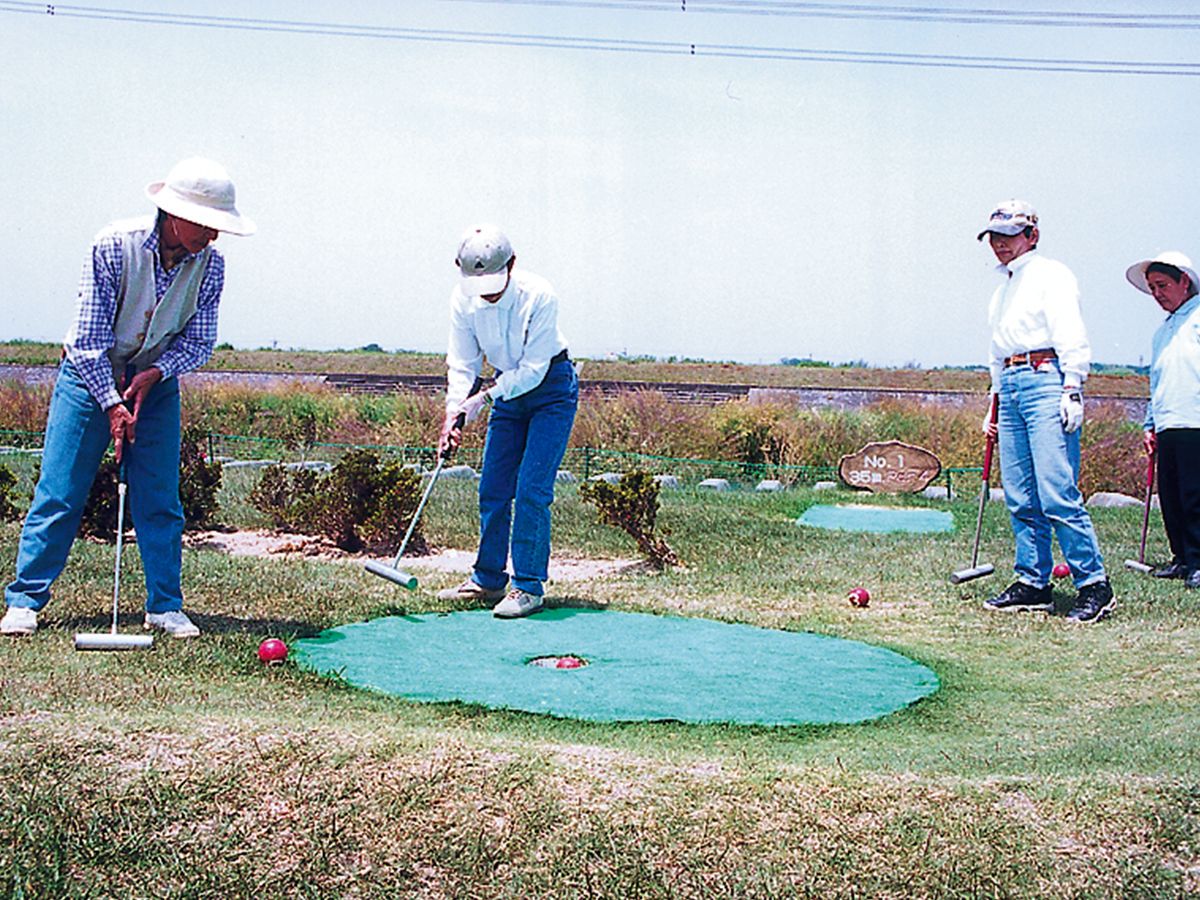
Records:
{"label": "blue-and-white plaid shirt worn under the beige vest", "polygon": [[[169,272],[162,268],[158,259],[158,228],[155,227],[152,217],[146,222],[149,232],[142,242],[142,251],[154,256],[155,295],[162,300],[179,266]],[[108,409],[121,402],[121,395],[113,380],[108,350],[116,342],[113,328],[116,322],[122,269],[121,240],[115,230],[108,227],[96,235],[91,245],[91,260],[84,265],[83,276],[79,278],[79,306],[66,341],[67,359],[79,372],[79,377],[101,409]],[[155,360],[154,365],[162,372],[163,378],[190,372],[209,361],[217,338],[217,307],[221,304],[223,287],[224,257],[214,247],[209,252],[209,264],[200,282],[196,314]]]}

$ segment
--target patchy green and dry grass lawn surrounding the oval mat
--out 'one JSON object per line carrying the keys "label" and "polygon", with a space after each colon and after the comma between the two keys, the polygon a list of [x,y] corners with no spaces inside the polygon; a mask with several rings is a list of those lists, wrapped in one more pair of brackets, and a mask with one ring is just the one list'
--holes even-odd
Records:
{"label": "patchy green and dry grass lawn surrounding the oval mat", "polygon": [[[253,526],[238,490],[227,517]],[[433,611],[456,580],[408,593],[346,562],[187,551],[199,640],[78,654],[73,632],[107,628],[113,575],[112,547],[80,542],[44,628],[0,642],[0,898],[1198,895],[1200,599],[1122,566],[1140,510],[1093,514],[1120,605],[1073,626],[980,608],[1009,581],[1000,504],[980,550],[997,574],[955,587],[970,497],[948,504],[952,534],[794,524],[829,498],[666,492],[684,568],[547,596],[868,641],[941,679],[854,726],[583,724],[262,666],[266,635]],[[554,516],[556,552],[632,554],[572,487]],[[473,548],[473,488],[440,482],[426,529]],[[17,534],[0,532],[6,574]],[[136,548],[126,562],[136,630]],[[868,610],[846,601],[858,584]]]}

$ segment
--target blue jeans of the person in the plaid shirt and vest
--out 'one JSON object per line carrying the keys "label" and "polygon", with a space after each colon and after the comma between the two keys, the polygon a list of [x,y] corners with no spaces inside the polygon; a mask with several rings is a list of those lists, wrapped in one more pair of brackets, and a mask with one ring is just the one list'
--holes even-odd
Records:
{"label": "blue jeans of the person in the plaid shirt and vest", "polygon": [[[179,382],[166,378],[146,395],[137,442],[126,444],[128,516],[145,570],[146,611],[184,605],[180,588],[184,508],[179,499]],[[109,444],[108,416],[70,362],[54,383],[46,421],[42,472],[17,547],[8,606],[41,610],[62,572],[96,470]]]}

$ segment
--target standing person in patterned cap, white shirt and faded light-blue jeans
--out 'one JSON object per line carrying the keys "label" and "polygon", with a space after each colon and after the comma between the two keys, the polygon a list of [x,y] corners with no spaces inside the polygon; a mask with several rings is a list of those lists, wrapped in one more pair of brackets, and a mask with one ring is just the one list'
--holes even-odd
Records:
{"label": "standing person in patterned cap, white shirt and faded light-blue jeans", "polygon": [[978,240],[984,238],[1003,277],[988,310],[991,403],[984,430],[998,438],[1016,542],[1016,581],[984,606],[1054,610],[1051,551],[1057,538],[1079,589],[1067,618],[1099,622],[1116,601],[1079,491],[1082,384],[1092,355],[1079,284],[1066,265],[1038,253],[1038,214],[1027,203],[997,204],[979,232]]}

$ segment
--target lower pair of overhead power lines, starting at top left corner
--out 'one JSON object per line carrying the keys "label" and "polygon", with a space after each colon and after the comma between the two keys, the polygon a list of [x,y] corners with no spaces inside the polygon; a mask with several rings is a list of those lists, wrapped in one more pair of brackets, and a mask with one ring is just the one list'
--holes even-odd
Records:
{"label": "lower pair of overhead power lines, starting at top left corner", "polygon": [[[524,1],[534,2],[536,0]],[[541,1],[551,2],[552,0]],[[1130,62],[1121,60],[965,56],[932,53],[886,53],[877,50],[832,50],[802,47],[756,47],[744,44],[682,43],[670,41],[631,41],[606,37],[497,34],[492,31],[444,31],[436,29],[394,28],[385,25],[350,25],[322,22],[294,22],[287,19],[252,19],[220,16],[197,16],[190,13],[144,12],[137,10],[109,10],[89,6],[20,2],[18,0],[0,0],[0,12],[23,12],[64,18],[133,22],[155,25],[229,29],[240,31],[326,35],[337,37],[371,37],[391,41],[475,43],[498,47],[539,47],[548,49],[718,56],[751,60],[853,62],[858,65],[982,68],[1022,72],[1200,76],[1200,62]]]}

